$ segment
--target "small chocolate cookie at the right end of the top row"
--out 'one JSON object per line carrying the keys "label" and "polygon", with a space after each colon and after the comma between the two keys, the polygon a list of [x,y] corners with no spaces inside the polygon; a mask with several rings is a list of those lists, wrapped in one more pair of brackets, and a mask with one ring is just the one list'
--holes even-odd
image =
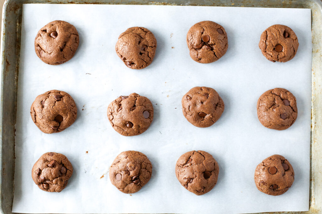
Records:
{"label": "small chocolate cookie at the right end of the top row", "polygon": [[275,24],[261,34],[258,46],[268,60],[285,63],[295,56],[298,38],[288,26]]}

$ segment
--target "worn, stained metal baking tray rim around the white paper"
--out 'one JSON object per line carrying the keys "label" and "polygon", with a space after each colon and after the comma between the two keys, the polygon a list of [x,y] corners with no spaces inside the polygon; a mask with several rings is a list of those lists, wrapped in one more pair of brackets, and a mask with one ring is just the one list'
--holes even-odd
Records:
{"label": "worn, stained metal baking tray rim around the white paper", "polygon": [[[14,136],[20,60],[22,4],[154,4],[310,8],[312,14],[312,107],[309,211],[322,213],[322,2],[321,0],[6,0],[2,13],[0,88],[0,212],[12,213]],[[298,20],[300,21],[300,20]],[[280,212],[279,212],[280,213]],[[282,212],[295,213],[295,212]]]}

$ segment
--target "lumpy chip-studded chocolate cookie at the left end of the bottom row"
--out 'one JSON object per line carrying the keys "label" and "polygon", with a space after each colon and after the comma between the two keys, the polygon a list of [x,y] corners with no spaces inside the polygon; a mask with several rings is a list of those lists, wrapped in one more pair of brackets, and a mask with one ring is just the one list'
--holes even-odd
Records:
{"label": "lumpy chip-studded chocolate cookie at the left end of the bottom row", "polygon": [[60,192],[73,174],[73,167],[68,158],[60,153],[47,152],[33,165],[33,181],[47,192]]}

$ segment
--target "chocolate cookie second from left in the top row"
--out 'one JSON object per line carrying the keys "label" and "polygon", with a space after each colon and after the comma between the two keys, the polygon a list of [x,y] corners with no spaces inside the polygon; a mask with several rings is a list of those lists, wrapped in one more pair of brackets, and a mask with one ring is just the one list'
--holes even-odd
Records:
{"label": "chocolate cookie second from left in the top row", "polygon": [[128,28],[119,35],[115,50],[126,66],[131,69],[142,69],[153,61],[156,38],[146,28]]}

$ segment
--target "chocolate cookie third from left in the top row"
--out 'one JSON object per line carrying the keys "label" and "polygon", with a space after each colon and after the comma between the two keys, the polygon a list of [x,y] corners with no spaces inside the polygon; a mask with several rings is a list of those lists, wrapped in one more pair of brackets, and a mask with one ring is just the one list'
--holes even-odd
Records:
{"label": "chocolate cookie third from left in the top row", "polygon": [[194,24],[187,33],[191,58],[198,63],[212,63],[227,51],[228,39],[223,26],[213,21]]}

